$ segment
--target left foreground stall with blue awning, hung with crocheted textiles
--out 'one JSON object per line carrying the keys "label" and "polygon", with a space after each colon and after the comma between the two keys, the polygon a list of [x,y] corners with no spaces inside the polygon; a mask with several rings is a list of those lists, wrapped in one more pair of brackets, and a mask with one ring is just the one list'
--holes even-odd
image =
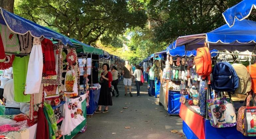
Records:
{"label": "left foreground stall with blue awning, hung with crocheted textiles", "polygon": [[70,38],[2,8],[0,23],[0,69],[13,73],[4,85],[8,116],[0,116],[1,138],[72,138],[85,128],[87,93],[77,87]]}

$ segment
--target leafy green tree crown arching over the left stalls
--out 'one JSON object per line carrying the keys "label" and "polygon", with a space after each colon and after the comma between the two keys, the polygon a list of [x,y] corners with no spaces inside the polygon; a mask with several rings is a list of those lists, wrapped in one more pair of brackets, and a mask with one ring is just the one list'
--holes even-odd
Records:
{"label": "leafy green tree crown arching over the left stalls", "polygon": [[[133,1],[133,0],[131,0]],[[126,0],[17,0],[15,14],[89,45],[101,35],[109,39],[147,20],[140,5]],[[139,3],[140,4],[140,3]]]}

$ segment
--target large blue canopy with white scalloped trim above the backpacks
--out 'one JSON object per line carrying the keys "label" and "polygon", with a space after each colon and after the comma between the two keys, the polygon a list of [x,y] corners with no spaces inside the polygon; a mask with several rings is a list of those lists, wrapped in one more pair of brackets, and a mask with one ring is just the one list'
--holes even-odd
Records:
{"label": "large blue canopy with white scalloped trim above the backpacks", "polygon": [[193,50],[198,47],[203,47],[204,42],[207,42],[211,50],[253,51],[256,41],[255,32],[256,22],[237,20],[233,27],[229,27],[225,24],[208,33],[179,37],[173,43],[173,48],[188,45],[188,50]]}

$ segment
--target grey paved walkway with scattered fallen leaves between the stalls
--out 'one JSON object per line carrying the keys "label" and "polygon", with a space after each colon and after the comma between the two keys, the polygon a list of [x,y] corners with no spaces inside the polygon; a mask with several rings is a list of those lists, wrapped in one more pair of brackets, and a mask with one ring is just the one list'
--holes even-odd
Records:
{"label": "grey paved walkway with scattered fallen leaves between the stalls", "polygon": [[118,98],[112,97],[113,106],[109,107],[109,112],[93,114],[92,118],[87,118],[87,130],[77,134],[74,139],[185,138],[170,132],[175,129],[182,133],[182,120],[179,116],[169,116],[164,107],[159,106],[159,99],[148,96],[147,83],[141,86],[140,97],[136,96],[134,85],[133,97],[124,96],[122,81],[118,89],[120,95]]}

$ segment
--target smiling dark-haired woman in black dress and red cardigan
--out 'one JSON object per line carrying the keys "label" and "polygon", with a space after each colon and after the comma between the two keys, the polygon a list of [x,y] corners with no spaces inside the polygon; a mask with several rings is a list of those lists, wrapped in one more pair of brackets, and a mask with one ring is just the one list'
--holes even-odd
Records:
{"label": "smiling dark-haired woman in black dress and red cardigan", "polygon": [[104,105],[105,110],[102,113],[108,112],[108,106],[112,106],[112,98],[111,98],[111,81],[112,81],[112,74],[109,72],[109,65],[108,64],[103,64],[103,72],[101,73],[100,77],[100,93],[99,93],[99,109],[95,111],[95,113],[101,113],[101,106]]}

